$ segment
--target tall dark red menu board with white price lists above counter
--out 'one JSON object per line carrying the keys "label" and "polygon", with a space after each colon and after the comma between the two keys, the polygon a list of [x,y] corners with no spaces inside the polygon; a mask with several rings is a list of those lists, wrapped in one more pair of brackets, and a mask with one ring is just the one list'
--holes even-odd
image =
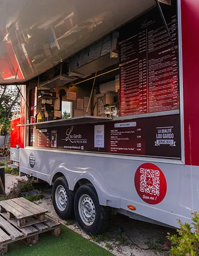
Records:
{"label": "tall dark red menu board with white price lists above counter", "polygon": [[[178,50],[175,1],[163,12]],[[121,116],[179,109],[177,56],[157,8],[121,29],[120,77]]]}

